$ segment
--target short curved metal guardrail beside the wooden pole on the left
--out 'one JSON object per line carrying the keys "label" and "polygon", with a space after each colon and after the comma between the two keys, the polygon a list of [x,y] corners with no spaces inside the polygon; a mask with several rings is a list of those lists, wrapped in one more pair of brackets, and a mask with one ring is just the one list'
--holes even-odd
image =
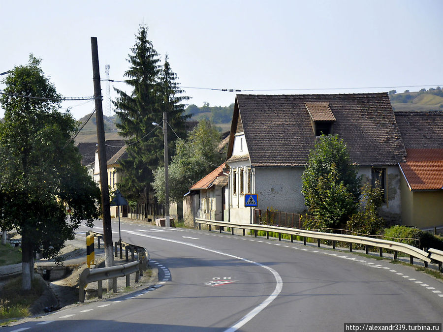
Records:
{"label": "short curved metal guardrail beside the wooden pole on the left", "polygon": [[[90,232],[97,237],[99,243],[99,237],[103,237],[102,234],[96,232]],[[134,260],[134,248],[136,248],[138,260],[124,264],[115,265],[107,268],[90,269],[86,268],[79,274],[78,277],[78,289],[79,289],[79,301],[85,302],[85,288],[91,282],[98,282],[98,298],[103,298],[103,286],[102,281],[107,279],[113,279],[113,292],[117,292],[117,278],[126,276],[126,286],[129,287],[130,274],[135,273],[135,282],[138,282],[139,276],[143,276],[143,271],[146,271],[149,263],[149,252],[146,248],[140,247],[134,244],[126,243],[122,241],[122,246],[132,248],[132,260]],[[100,245],[98,244],[98,247]],[[126,254],[126,260],[128,259]]]}

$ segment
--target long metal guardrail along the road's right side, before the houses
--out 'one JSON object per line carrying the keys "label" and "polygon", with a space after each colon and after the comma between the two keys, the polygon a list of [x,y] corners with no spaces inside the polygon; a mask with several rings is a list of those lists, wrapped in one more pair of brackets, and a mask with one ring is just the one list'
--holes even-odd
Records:
{"label": "long metal guardrail along the road's right side, before the houses", "polygon": [[211,226],[229,227],[231,228],[232,234],[234,234],[234,228],[243,229],[243,235],[245,235],[245,230],[253,230],[255,237],[257,236],[256,231],[266,232],[267,238],[269,238],[269,232],[279,233],[279,240],[281,239],[281,234],[289,234],[291,242],[293,241],[293,236],[301,236],[303,237],[303,242],[305,245],[306,245],[306,238],[317,239],[318,246],[320,246],[320,240],[329,240],[332,241],[332,247],[334,249],[335,249],[335,242],[348,242],[349,251],[352,251],[353,243],[363,244],[366,247],[366,253],[368,253],[370,246],[374,246],[380,248],[380,257],[382,256],[383,249],[389,249],[394,251],[394,260],[397,259],[398,252],[401,252],[410,256],[411,264],[413,264],[413,258],[422,260],[424,262],[425,267],[428,266],[428,263],[431,263],[431,260],[435,260],[439,262],[439,268],[440,271],[442,271],[443,251],[433,248],[430,248],[428,250],[430,253],[428,253],[412,245],[401,242],[373,239],[373,238],[361,237],[355,235],[314,232],[314,231],[297,229],[297,228],[287,228],[287,227],[258,225],[258,224],[238,224],[233,222],[215,221],[215,220],[208,220],[201,218],[196,218],[195,222],[199,224],[199,228],[201,228],[201,225],[208,225],[209,230],[211,230]]}

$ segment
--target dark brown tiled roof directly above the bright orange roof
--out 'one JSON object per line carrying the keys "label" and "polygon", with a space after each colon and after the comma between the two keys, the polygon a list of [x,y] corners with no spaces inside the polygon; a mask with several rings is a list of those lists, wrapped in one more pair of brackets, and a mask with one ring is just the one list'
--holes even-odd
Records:
{"label": "dark brown tiled roof directly above the bright orange roof", "polygon": [[443,112],[394,112],[406,149],[443,148]]}

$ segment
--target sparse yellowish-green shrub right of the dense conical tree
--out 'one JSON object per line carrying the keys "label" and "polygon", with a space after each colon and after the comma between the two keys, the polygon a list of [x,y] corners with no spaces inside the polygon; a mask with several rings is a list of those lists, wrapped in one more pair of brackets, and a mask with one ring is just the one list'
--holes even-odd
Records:
{"label": "sparse yellowish-green shrub right of the dense conical tree", "polygon": [[383,190],[379,186],[372,188],[366,183],[362,188],[362,199],[359,210],[347,222],[347,229],[353,232],[378,235],[384,225],[378,215],[378,207],[383,202]]}

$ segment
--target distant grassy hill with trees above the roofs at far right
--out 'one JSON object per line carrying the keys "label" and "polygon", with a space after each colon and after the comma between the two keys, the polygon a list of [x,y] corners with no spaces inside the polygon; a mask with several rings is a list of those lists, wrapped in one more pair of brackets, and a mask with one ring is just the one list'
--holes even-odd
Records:
{"label": "distant grassy hill with trees above the roofs at far right", "polygon": [[389,99],[394,111],[443,111],[443,90],[440,87],[422,89],[416,92],[396,93],[389,91]]}

